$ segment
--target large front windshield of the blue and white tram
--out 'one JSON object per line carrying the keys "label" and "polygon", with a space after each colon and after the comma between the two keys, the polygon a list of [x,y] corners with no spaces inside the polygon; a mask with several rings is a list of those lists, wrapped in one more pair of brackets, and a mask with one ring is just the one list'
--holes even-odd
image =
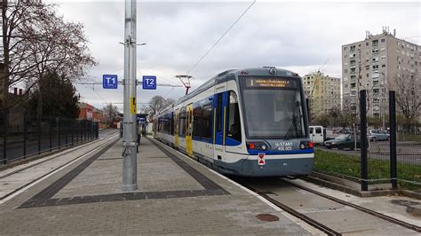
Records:
{"label": "large front windshield of the blue and white tram", "polygon": [[256,87],[248,86],[250,79],[245,81],[242,83],[242,99],[248,138],[306,137],[298,83]]}

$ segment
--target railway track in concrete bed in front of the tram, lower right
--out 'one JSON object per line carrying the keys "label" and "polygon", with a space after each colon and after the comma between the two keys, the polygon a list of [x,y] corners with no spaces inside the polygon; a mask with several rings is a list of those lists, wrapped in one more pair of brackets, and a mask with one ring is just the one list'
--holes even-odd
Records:
{"label": "railway track in concrete bed in front of the tram, lower right", "polygon": [[[276,186],[273,183],[275,183],[276,181],[277,182],[281,182],[284,189],[285,189],[285,186],[287,188],[288,187],[296,188],[301,193],[314,194],[315,195],[314,198],[315,197],[320,197],[320,198],[323,199],[323,201],[332,201],[333,204],[337,204],[337,206],[338,205],[341,205],[342,206],[342,207],[336,207],[336,208],[350,208],[350,209],[353,209],[353,211],[343,210],[341,214],[338,214],[338,217],[344,217],[344,215],[349,212],[348,213],[349,214],[348,215],[348,217],[349,217],[348,218],[348,223],[349,224],[352,224],[351,221],[353,220],[353,217],[355,217],[355,216],[361,216],[361,213],[362,213],[362,214],[368,214],[369,216],[374,216],[374,217],[377,218],[377,220],[374,220],[377,223],[375,223],[373,225],[378,224],[379,221],[386,221],[387,223],[394,224],[394,225],[399,225],[401,227],[404,227],[406,229],[409,229],[410,231],[413,231],[414,233],[421,232],[421,227],[419,227],[417,225],[409,224],[409,223],[404,222],[404,221],[401,221],[401,220],[399,220],[397,218],[393,218],[391,216],[386,216],[385,214],[379,213],[379,212],[374,211],[372,209],[363,208],[363,207],[361,207],[359,205],[355,205],[355,204],[353,204],[351,202],[340,200],[338,198],[332,197],[332,196],[327,195],[325,193],[320,193],[318,191],[315,191],[313,189],[307,188],[305,186],[298,185],[296,183],[292,183],[291,181],[288,181],[288,180],[279,179],[279,178],[271,178],[270,179],[270,182],[273,185],[269,185],[269,188],[268,188],[267,187],[268,185],[266,185],[266,186],[261,186],[261,185],[258,185],[258,184],[253,185],[252,182],[251,182],[251,185],[250,185],[249,184],[250,179],[248,179],[246,181],[244,181],[242,178],[237,178],[237,177],[234,177],[232,179],[235,182],[237,182],[238,184],[243,185],[244,187],[250,189],[250,191],[253,191],[254,193],[258,193],[258,195],[260,195],[261,197],[265,198],[266,201],[270,201],[272,204],[274,204],[278,208],[282,208],[282,210],[288,212],[290,215],[298,217],[300,220],[306,222],[306,224],[309,224],[309,225],[313,226],[314,228],[316,228],[316,229],[318,229],[318,230],[320,230],[322,232],[325,232],[328,235],[342,235],[342,234],[346,234],[346,233],[358,233],[358,232],[360,232],[360,233],[369,233],[369,232],[367,232],[369,230],[367,228],[364,228],[364,226],[361,226],[361,229],[354,229],[354,231],[351,232],[348,229],[341,228],[340,226],[338,226],[337,223],[331,223],[330,224],[330,222],[328,220],[326,220],[326,219],[322,219],[321,220],[321,217],[320,216],[318,217],[318,216],[315,216],[313,214],[306,214],[305,212],[303,212],[303,209],[302,208],[300,209],[299,207],[295,206],[294,204],[290,204],[288,202],[288,200],[284,200],[282,198],[282,191],[285,191],[285,190],[280,191],[279,192],[279,195],[277,195],[276,193],[273,193],[274,190],[276,189]],[[279,184],[279,183],[277,183],[277,184]],[[272,189],[272,192],[266,191],[267,189]],[[283,193],[285,193],[285,192],[283,192]],[[293,193],[293,194],[298,194],[297,193],[297,190],[296,190],[296,193]],[[297,198],[299,198],[299,196],[297,196]],[[308,205],[309,208],[312,208],[312,209],[325,208],[325,206],[322,206],[321,207],[320,205],[317,206],[317,204],[315,204],[315,206],[314,206],[314,202],[322,202],[322,201],[306,202],[306,205]],[[332,203],[330,203],[330,204],[332,204]],[[358,211],[358,212],[360,212],[360,213],[357,212],[357,215],[355,215],[355,210]],[[323,214],[329,214],[329,212],[325,212]],[[335,211],[332,210],[331,211],[331,214],[335,214]],[[380,219],[380,220],[378,220],[378,219]],[[387,223],[385,223],[385,225]],[[391,227],[390,224],[388,226],[385,226],[385,228],[386,227]],[[401,232],[401,233],[403,233],[403,232]]]}

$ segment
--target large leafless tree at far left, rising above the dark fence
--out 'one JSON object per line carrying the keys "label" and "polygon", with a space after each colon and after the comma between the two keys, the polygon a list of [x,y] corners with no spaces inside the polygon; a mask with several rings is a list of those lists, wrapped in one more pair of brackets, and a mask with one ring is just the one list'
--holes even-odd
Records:
{"label": "large leafless tree at far left, rising above the dark fence", "polygon": [[[13,83],[26,83],[28,93],[48,72],[75,81],[96,65],[83,25],[65,22],[53,4],[14,0],[4,1],[3,6],[4,106],[10,106],[7,96]],[[41,116],[42,94],[38,101]]]}

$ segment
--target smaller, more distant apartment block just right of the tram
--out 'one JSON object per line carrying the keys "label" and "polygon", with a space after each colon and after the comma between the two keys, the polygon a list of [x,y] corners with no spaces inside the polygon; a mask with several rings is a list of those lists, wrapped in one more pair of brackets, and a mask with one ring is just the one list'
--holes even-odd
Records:
{"label": "smaller, more distant apartment block just right of the tram", "polygon": [[333,108],[340,108],[340,78],[318,71],[305,75],[303,85],[306,98],[310,100],[312,118],[329,114]]}

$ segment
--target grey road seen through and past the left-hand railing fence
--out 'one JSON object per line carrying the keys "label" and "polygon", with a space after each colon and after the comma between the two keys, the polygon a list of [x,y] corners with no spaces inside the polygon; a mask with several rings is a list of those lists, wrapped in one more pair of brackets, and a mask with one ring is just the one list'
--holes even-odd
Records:
{"label": "grey road seen through and past the left-hand railing fence", "polygon": [[[117,132],[118,130],[115,129],[107,129],[107,130],[99,130],[99,138],[105,138],[107,136],[110,136],[112,134],[115,134],[115,132]],[[67,140],[66,140],[67,139]],[[52,148],[52,150],[55,150],[58,148],[59,146],[59,139],[57,137],[52,137],[51,139],[51,146],[50,146],[50,137],[43,137],[41,139],[41,152],[45,152],[48,151],[50,148]],[[79,142],[83,140],[84,138],[81,139],[79,137]],[[67,137],[65,135],[61,135],[60,136],[60,146],[61,147],[66,147],[68,144],[68,146],[70,146],[72,142],[71,136],[68,135]],[[74,142],[76,142],[76,138],[74,137]],[[38,140],[37,139],[31,139],[31,140],[27,140],[27,156],[28,155],[32,155],[32,154],[36,154],[38,153]],[[7,159],[10,160],[15,160],[15,159],[19,159],[23,157],[23,143],[14,143],[14,144],[10,144],[7,147]],[[0,146],[0,164],[3,164],[3,146]]]}

